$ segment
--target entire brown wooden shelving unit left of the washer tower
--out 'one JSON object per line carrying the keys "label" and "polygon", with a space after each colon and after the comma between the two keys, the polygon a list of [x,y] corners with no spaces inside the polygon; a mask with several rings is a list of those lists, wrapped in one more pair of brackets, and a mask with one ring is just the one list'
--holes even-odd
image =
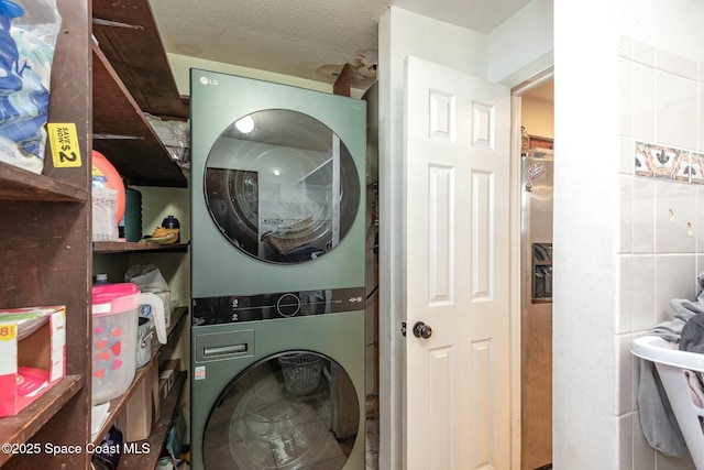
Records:
{"label": "entire brown wooden shelving unit left of the washer tower", "polygon": [[[187,187],[144,112],[186,119],[188,105],[175,92],[148,0],[56,3],[62,31],[52,64],[48,122],[76,125],[81,164],[55,166],[48,143],[41,175],[0,162],[0,220],[6,221],[0,225],[0,278],[6,286],[0,291],[0,308],[66,306],[67,376],[16,416],[0,418],[0,440],[85,448],[91,440],[94,249],[99,253],[187,251],[183,243],[94,247],[91,150],[106,154],[132,185]],[[111,21],[132,22],[136,28],[114,28]],[[135,44],[140,48],[129,48]],[[144,64],[134,61],[147,67],[140,69]],[[174,326],[183,324],[186,310],[177,310],[180,319]],[[138,373],[135,382],[141,376]],[[121,406],[116,404],[113,409]],[[0,453],[0,466],[3,470],[88,469],[90,458],[87,452]]]}

